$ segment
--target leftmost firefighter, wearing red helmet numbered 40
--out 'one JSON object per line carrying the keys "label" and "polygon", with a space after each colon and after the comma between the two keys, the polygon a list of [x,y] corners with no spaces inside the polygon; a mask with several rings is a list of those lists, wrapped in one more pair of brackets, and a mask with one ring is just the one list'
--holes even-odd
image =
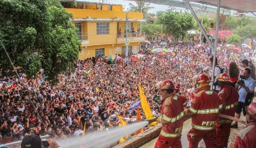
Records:
{"label": "leftmost firefighter, wearing red helmet numbered 40", "polygon": [[162,130],[156,141],[155,148],[182,148],[181,132],[183,126],[184,108],[186,97],[174,93],[174,84],[170,80],[160,81],[156,84],[160,90],[161,116],[157,122],[162,123]]}

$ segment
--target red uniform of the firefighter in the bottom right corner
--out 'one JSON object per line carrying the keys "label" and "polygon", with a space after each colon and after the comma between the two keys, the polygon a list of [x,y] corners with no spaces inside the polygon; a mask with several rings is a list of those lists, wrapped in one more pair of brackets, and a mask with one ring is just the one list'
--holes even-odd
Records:
{"label": "red uniform of the firefighter in the bottom right corner", "polygon": [[236,137],[234,148],[256,148],[256,123],[251,122]]}

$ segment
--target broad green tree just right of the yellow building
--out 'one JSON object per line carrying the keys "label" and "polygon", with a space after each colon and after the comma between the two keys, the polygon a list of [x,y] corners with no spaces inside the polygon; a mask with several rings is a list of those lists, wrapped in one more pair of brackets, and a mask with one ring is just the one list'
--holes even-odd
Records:
{"label": "broad green tree just right of the yellow building", "polygon": [[193,28],[193,17],[191,14],[179,14],[167,11],[158,17],[158,24],[162,24],[164,33],[172,37],[172,43],[184,37],[188,30]]}

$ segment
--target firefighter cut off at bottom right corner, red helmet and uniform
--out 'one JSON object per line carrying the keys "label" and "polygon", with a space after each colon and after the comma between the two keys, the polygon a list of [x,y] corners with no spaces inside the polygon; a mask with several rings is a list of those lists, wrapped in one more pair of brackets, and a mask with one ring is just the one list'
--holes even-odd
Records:
{"label": "firefighter cut off at bottom right corner, red helmet and uniform", "polygon": [[246,112],[248,126],[239,132],[234,148],[256,148],[256,103],[247,106]]}

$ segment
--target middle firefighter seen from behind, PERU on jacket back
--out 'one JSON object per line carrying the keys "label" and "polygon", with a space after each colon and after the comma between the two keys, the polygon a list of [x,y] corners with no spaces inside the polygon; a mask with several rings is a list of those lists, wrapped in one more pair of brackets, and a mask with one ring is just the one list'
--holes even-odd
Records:
{"label": "middle firefighter seen from behind, PERU on jacket back", "polygon": [[198,148],[201,139],[204,139],[206,148],[213,148],[217,146],[214,129],[219,109],[222,107],[221,100],[210,90],[210,79],[207,75],[198,75],[196,83],[198,87],[191,106],[184,111],[185,114],[191,114],[192,118],[192,128],[187,134],[189,148]]}

